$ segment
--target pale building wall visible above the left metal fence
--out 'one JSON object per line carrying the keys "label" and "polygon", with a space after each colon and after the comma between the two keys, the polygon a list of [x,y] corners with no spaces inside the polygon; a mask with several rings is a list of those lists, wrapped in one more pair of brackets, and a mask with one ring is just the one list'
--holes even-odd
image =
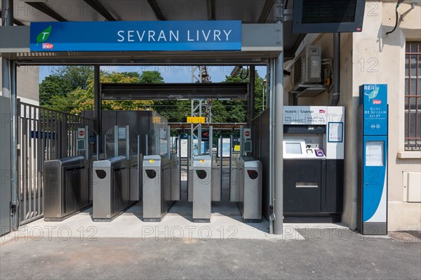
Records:
{"label": "pale building wall visible above the left metal fence", "polygon": [[[0,58],[1,65],[1,58]],[[1,69],[0,67],[0,77]],[[22,66],[18,67],[18,80],[16,92],[18,98],[22,102],[32,105],[39,105],[39,67],[38,66]],[[0,79],[0,95],[1,95],[1,79]]]}

